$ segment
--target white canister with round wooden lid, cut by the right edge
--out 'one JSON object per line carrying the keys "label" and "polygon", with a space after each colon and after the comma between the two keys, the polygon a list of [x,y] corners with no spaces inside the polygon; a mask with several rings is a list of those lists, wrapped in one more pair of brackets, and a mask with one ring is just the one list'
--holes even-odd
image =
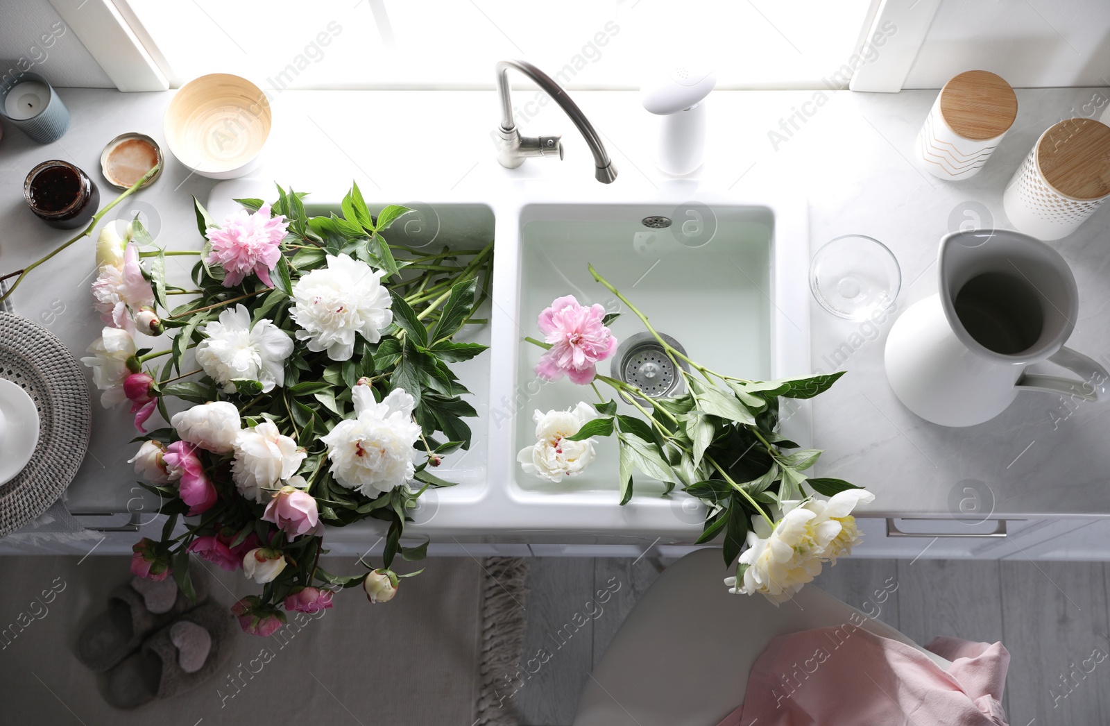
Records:
{"label": "white canister with round wooden lid, cut by the right edge", "polygon": [[1041,240],[1074,232],[1110,196],[1110,127],[1067,119],[1041,134],[1002,193],[1006,215]]}

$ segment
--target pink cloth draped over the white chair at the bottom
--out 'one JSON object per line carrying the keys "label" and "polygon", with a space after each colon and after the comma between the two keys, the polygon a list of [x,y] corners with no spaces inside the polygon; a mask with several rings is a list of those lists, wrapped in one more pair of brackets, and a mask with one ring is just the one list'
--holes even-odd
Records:
{"label": "pink cloth draped over the white chair at the bottom", "polygon": [[1006,726],[999,700],[1010,654],[1001,643],[939,637],[920,651],[846,623],[770,642],[747,698],[718,726]]}

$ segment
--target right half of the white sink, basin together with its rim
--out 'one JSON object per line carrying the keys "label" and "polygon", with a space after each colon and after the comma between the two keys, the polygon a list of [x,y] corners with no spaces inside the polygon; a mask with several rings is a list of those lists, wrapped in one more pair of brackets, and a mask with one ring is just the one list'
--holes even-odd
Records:
{"label": "right half of the white sink, basin together with its rim", "polygon": [[[605,190],[608,192],[608,190]],[[536,316],[561,295],[622,313],[610,325],[618,340],[645,331],[640,321],[596,283],[594,268],[644,312],[660,333],[694,360],[750,379],[809,372],[807,220],[804,200],[727,196],[674,186],[639,199],[547,202],[531,199],[509,213],[498,209],[494,271],[490,474],[522,511],[522,524],[545,530],[644,533],[689,542],[704,510],[696,500],[636,473],[635,495],[618,502],[615,438],[599,438],[596,460],[559,483],[525,474],[516,462],[535,443],[535,410],[596,403],[589,386],[567,379],[544,382],[534,367],[543,351]],[[684,201],[685,200],[685,201]],[[667,218],[666,222],[652,218]],[[511,229],[505,229],[512,224]],[[650,225],[650,226],[649,226]],[[612,359],[598,365],[610,375]],[[619,376],[615,376],[619,377]],[[598,385],[606,399],[612,389]],[[622,413],[636,413],[620,402]],[[784,414],[787,415],[787,414]],[[790,412],[784,430],[804,445],[811,438],[808,407]]]}

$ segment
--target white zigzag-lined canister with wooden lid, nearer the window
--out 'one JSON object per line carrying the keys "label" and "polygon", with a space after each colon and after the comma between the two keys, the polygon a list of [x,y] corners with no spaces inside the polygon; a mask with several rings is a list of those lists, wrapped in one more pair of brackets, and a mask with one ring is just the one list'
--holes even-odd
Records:
{"label": "white zigzag-lined canister with wooden lid, nearer the window", "polygon": [[1010,130],[1018,97],[990,71],[966,71],[940,89],[917,137],[917,157],[940,179],[975,177]]}

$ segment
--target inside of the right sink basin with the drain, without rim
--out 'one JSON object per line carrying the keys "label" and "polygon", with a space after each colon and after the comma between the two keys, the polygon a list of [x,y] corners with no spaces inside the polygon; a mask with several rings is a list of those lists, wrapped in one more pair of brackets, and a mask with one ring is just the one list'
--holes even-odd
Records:
{"label": "inside of the right sink basin with the drain, without rim", "polygon": [[[587,263],[648,316],[657,331],[677,340],[687,354],[717,371],[750,379],[770,376],[770,258],[774,219],[766,208],[727,206],[705,210],[709,219],[684,232],[682,220],[666,229],[648,229],[645,218],[659,214],[653,205],[573,208],[528,206],[521,216],[521,296],[517,320],[524,332],[542,337],[536,315],[558,296],[573,294],[583,305],[599,303],[622,313],[609,329],[617,340],[645,331],[644,324],[608,290],[594,281]],[[668,218],[669,219],[669,218]],[[687,232],[689,234],[687,234]],[[522,336],[523,337],[523,336]],[[543,350],[523,343],[517,356],[517,387],[535,391],[513,417],[514,450],[535,443],[534,410],[567,409],[578,401],[596,404],[589,386],[563,379],[548,383],[533,372]],[[616,356],[604,361],[610,370]],[[666,362],[663,362],[666,364]],[[673,377],[673,376],[669,376]],[[606,399],[614,391],[599,385]],[[638,415],[632,404],[620,413]],[[616,491],[616,440],[601,438],[597,458],[584,473],[553,484],[519,470],[521,490],[539,495],[572,491]],[[636,491],[659,494],[664,484],[636,476]]]}

